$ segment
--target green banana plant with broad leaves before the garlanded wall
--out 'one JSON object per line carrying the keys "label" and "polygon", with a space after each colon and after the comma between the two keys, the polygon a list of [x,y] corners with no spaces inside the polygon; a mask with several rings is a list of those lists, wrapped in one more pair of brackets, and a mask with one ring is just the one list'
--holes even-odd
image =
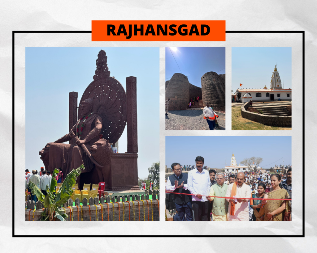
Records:
{"label": "green banana plant with broad leaves before the garlanded wall", "polygon": [[[41,192],[40,188],[36,186],[33,182],[29,182],[29,188],[32,194],[36,195],[39,201],[43,202],[45,207],[44,212],[46,213],[46,217],[44,220],[53,220],[54,218],[60,219],[61,221],[65,221],[65,218],[68,217],[66,213],[64,213],[63,209],[59,209],[68,199],[72,196],[74,190],[72,187],[76,183],[77,177],[81,174],[81,172],[85,169],[82,164],[79,168],[73,169],[68,173],[64,182],[61,184],[61,188],[55,194],[55,189],[57,186],[57,182],[55,176],[58,173],[58,170],[55,169],[52,174],[52,181],[50,186],[46,186],[45,191],[47,192],[46,196]],[[54,195],[55,194],[55,195]],[[55,215],[54,215],[55,212]],[[54,215],[54,217],[53,217]]]}

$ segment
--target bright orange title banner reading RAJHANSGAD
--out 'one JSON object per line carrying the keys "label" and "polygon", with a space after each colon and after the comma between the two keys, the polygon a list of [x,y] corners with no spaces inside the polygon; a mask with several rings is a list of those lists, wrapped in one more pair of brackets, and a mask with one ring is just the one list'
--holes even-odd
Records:
{"label": "bright orange title banner reading RAJHANSGAD", "polygon": [[226,41],[226,21],[93,20],[92,41]]}

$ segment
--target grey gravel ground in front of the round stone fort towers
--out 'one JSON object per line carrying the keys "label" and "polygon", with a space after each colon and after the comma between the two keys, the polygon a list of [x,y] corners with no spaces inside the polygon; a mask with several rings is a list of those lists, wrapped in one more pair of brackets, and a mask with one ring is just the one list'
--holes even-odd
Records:
{"label": "grey gravel ground in front of the round stone fort towers", "polygon": [[[226,116],[217,118],[220,129],[226,130]],[[168,111],[165,115],[165,130],[209,130],[208,123],[203,116],[203,110]]]}

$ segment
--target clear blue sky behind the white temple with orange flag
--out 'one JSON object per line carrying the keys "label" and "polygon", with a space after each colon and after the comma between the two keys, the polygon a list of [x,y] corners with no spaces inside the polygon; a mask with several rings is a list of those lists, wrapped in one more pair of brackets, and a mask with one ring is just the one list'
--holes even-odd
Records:
{"label": "clear blue sky behind the white temple with orange flag", "polygon": [[292,88],[292,48],[291,47],[232,47],[232,85],[239,89],[270,88],[272,72],[277,63],[284,89]]}

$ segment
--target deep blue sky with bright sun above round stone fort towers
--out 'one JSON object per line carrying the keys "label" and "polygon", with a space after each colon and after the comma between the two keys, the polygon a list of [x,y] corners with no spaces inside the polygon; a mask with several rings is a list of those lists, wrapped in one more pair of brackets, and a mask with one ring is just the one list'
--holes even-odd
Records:
{"label": "deep blue sky with bright sun above round stone fort towers", "polygon": [[[209,71],[226,73],[225,47],[165,47],[165,81],[173,74],[182,73],[191,84],[201,87],[200,78]],[[173,58],[173,55],[175,59]],[[176,62],[175,62],[176,60]],[[179,67],[179,68],[178,68]]]}

